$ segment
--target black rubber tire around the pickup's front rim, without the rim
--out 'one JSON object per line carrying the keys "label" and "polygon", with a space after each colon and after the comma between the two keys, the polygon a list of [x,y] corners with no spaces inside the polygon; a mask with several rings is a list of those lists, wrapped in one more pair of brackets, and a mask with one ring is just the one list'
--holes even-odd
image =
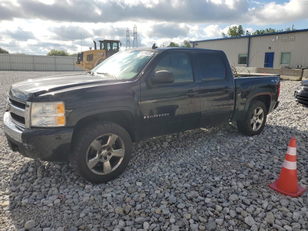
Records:
{"label": "black rubber tire around the pickup's front rim, without the rim", "polygon": [[[122,162],[115,170],[104,175],[95,174],[87,166],[87,151],[93,140],[106,133],[115,134],[123,140],[125,145],[125,154]],[[74,170],[80,176],[92,183],[99,184],[118,177],[127,167],[131,156],[132,140],[128,132],[118,124],[107,121],[98,121],[85,125],[76,135],[73,136],[69,161],[73,165]]]}

